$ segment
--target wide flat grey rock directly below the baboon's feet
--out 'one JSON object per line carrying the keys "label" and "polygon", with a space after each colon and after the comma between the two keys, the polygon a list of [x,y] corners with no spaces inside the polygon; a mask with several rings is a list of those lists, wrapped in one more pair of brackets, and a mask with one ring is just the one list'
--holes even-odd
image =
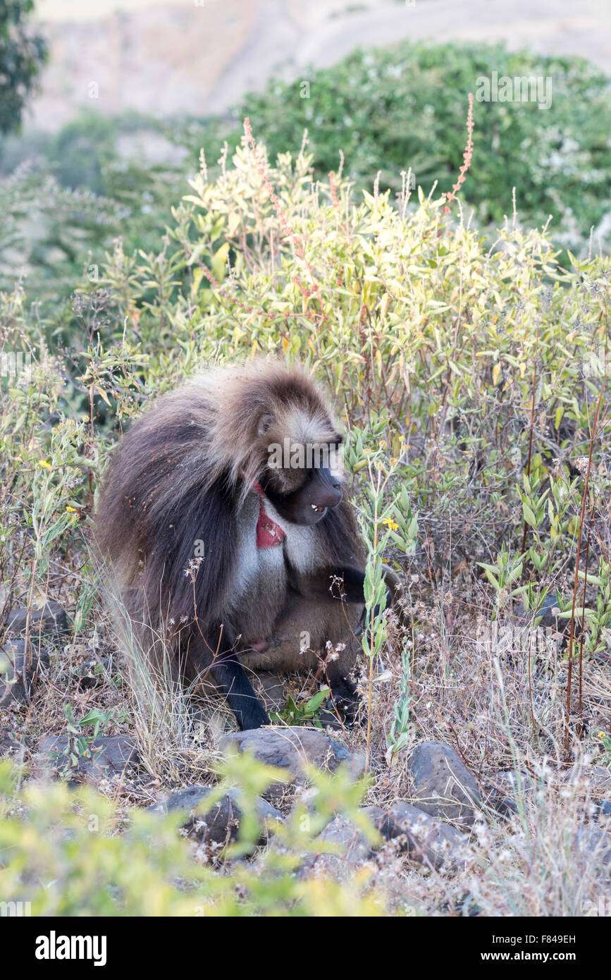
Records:
{"label": "wide flat grey rock directly below the baboon's feet", "polygon": [[355,753],[352,759],[345,746],[316,728],[270,725],[244,732],[231,732],[221,738],[220,749],[224,753],[232,749],[251,752],[267,765],[288,769],[294,779],[303,778],[307,763],[330,772],[335,772],[341,764],[346,764],[352,768],[354,777],[364,771],[364,760],[360,755]]}

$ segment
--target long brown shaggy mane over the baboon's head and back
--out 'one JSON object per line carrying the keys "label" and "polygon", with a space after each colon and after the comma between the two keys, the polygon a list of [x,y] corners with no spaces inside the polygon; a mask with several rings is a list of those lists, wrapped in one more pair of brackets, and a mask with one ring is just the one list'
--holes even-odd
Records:
{"label": "long brown shaggy mane over the baboon's head and back", "polygon": [[300,369],[262,361],[214,368],[162,396],[119,442],[98,506],[97,542],[121,588],[139,579],[152,602],[167,583],[164,606],[186,614],[193,592],[185,570],[195,541],[205,539],[198,607],[218,608],[234,561],[231,520],[265,466],[267,445],[287,435],[304,442],[337,436]]}

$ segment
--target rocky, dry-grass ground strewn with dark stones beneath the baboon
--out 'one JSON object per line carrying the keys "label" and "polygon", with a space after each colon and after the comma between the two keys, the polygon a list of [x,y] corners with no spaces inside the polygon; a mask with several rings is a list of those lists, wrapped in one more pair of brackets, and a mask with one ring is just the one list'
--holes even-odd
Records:
{"label": "rocky, dry-grass ground strewn with dark stones beneath the baboon", "polygon": [[[296,806],[311,801],[307,766],[330,773],[342,769],[352,780],[365,772],[366,725],[349,730],[339,718],[333,719],[334,728],[274,725],[235,732],[230,730],[231,716],[216,704],[199,725],[174,731],[169,736],[173,744],[164,744],[168,736],[161,730],[152,746],[139,724],[137,692],[127,683],[127,665],[110,637],[101,643],[98,637],[92,644],[75,640],[70,617],[55,602],[29,615],[25,609],[14,610],[6,625],[0,755],[24,762],[26,779],[89,782],[120,801],[125,814],[134,806],[158,813],[184,811],[182,833],[200,859],[221,865],[224,848],[239,832],[239,794],[230,790],[212,806],[207,802],[216,783],[214,764],[227,754],[247,751],[283,770],[258,800],[261,831],[253,861],[265,848],[281,847],[274,828]],[[100,629],[103,633],[102,623]],[[31,664],[24,656],[27,631]],[[515,914],[518,901],[529,914],[586,914],[585,903],[595,901],[588,896],[608,887],[611,874],[611,771],[579,754],[571,765],[544,753],[539,758],[525,753],[517,742],[510,744],[509,729],[509,742],[503,744],[502,722],[475,706],[480,678],[475,678],[473,665],[465,664],[470,690],[465,683],[458,693],[450,684],[450,701],[442,709],[446,721],[436,722],[444,694],[440,675],[432,669],[435,655],[427,654],[434,639],[434,632],[417,637],[415,662],[426,662],[428,676],[426,681],[422,674],[413,678],[409,745],[396,759],[383,751],[395,681],[385,684],[382,676],[375,685],[369,789],[361,815],[377,836],[372,840],[340,807],[319,839],[332,853],[305,853],[299,875],[345,880],[366,869],[372,884],[383,887],[395,907],[410,914]],[[495,634],[494,644],[501,662],[511,658],[506,637]],[[478,674],[483,674],[485,647],[478,656]],[[511,675],[518,672],[511,663],[508,667]],[[268,708],[280,709],[287,678],[263,679]],[[595,703],[588,698],[589,672],[585,680],[588,712]],[[426,687],[420,692],[423,682]],[[551,681],[544,686],[542,702],[537,697],[541,716],[552,687]],[[465,698],[469,721],[459,717]],[[105,712],[108,723],[84,752],[66,723],[66,705],[72,720],[88,711]],[[517,708],[528,712],[526,704]],[[515,719],[512,724],[515,731]],[[431,737],[436,733],[438,737]],[[549,883],[541,885],[550,866],[558,876],[557,895]],[[531,881],[521,884],[521,875]],[[520,892],[519,899],[512,897],[512,889]]]}

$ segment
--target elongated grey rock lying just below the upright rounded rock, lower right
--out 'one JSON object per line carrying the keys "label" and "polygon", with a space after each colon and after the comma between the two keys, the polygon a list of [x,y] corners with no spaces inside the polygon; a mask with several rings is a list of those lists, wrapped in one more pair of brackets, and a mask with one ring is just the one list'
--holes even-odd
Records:
{"label": "elongated grey rock lying just below the upright rounded rock, lower right", "polygon": [[400,840],[408,858],[423,864],[456,868],[466,857],[466,834],[408,803],[396,803],[387,810],[380,829],[388,840]]}

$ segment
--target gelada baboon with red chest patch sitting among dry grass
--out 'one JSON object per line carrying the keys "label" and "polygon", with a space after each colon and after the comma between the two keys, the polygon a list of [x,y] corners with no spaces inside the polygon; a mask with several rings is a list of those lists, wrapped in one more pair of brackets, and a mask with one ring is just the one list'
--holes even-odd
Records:
{"label": "gelada baboon with red chest patch sitting among dry grass", "polygon": [[364,562],[341,441],[303,370],[256,362],[164,395],[111,461],[96,538],[140,642],[189,683],[210,675],[241,728],[269,723],[248,671],[316,667],[327,641],[346,645],[325,664],[334,700],[354,706]]}

